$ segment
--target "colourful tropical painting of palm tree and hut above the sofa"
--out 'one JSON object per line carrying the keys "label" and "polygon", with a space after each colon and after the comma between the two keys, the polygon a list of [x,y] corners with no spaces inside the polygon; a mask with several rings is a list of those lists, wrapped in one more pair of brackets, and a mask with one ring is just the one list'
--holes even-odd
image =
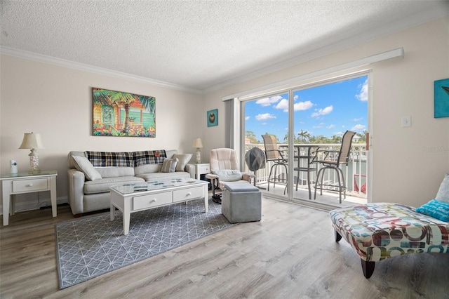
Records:
{"label": "colourful tropical painting of palm tree and hut above the sofa", "polygon": [[93,135],[156,137],[156,98],[92,88]]}

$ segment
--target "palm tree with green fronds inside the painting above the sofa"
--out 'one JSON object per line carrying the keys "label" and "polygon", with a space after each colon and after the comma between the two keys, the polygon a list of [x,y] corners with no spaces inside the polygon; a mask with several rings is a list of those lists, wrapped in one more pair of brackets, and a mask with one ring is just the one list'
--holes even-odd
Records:
{"label": "palm tree with green fronds inside the painting above the sofa", "polygon": [[125,124],[122,133],[129,133],[129,107],[134,102],[140,102],[143,107],[154,114],[154,102],[156,98],[147,97],[145,95],[135,95],[132,93],[121,93],[119,91],[109,91],[107,89],[97,89],[93,91],[93,103],[99,105],[111,105],[115,107],[123,107],[125,109]]}

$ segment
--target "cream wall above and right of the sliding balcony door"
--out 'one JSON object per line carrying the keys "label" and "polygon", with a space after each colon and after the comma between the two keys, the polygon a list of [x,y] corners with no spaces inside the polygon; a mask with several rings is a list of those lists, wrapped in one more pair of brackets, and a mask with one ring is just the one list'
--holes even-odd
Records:
{"label": "cream wall above and right of the sliding balcony door", "polygon": [[[449,118],[434,118],[434,80],[449,78],[448,17],[208,93],[204,109],[224,111],[221,99],[227,95],[395,48],[404,48],[405,58],[370,65],[374,77],[371,195],[374,202],[420,206],[435,197],[444,173],[449,173]],[[412,126],[402,128],[401,116],[406,115],[412,117]],[[224,133],[223,123],[206,128],[203,138],[208,140],[208,150],[224,146],[224,140],[216,138]]]}

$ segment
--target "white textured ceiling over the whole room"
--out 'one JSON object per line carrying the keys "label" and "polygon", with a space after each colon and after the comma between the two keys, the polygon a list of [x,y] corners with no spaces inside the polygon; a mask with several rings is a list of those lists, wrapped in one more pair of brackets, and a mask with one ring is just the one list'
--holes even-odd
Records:
{"label": "white textured ceiling over the whole room", "polygon": [[211,90],[449,14],[448,1],[1,1],[1,47]]}

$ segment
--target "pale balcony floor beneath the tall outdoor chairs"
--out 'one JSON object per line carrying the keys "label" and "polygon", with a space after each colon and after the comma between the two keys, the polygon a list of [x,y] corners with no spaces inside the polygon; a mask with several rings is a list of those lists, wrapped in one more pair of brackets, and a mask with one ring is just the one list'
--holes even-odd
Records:
{"label": "pale balcony floor beneath the tall outdoor chairs", "polygon": [[[281,199],[283,201],[288,201],[287,194],[284,195],[285,185],[276,184],[276,187],[273,187],[273,184],[270,184],[269,191],[267,191],[267,183],[257,184],[257,187],[260,188],[264,197],[271,197],[274,199]],[[310,206],[311,208],[319,208],[324,211],[330,211],[334,208],[342,208],[345,206],[354,206],[357,204],[366,204],[367,199],[363,197],[356,197],[354,195],[350,195],[347,193],[346,199],[342,199],[342,204],[340,204],[340,199],[338,197],[338,192],[325,192],[323,191],[323,195],[319,194],[317,191],[316,199],[314,199],[314,187],[311,190],[311,198],[309,199],[309,191],[303,189],[302,187],[298,187],[297,191],[293,190],[293,201],[294,204],[301,204],[304,206]]]}

